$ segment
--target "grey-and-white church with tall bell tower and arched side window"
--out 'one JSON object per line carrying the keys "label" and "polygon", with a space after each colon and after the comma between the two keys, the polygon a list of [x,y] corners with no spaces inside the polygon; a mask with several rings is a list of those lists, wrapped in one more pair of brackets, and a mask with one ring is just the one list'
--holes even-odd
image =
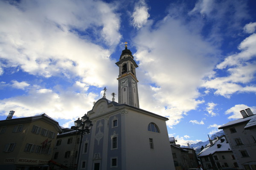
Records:
{"label": "grey-and-white church with tall bell tower and arched side window", "polygon": [[116,65],[118,103],[104,93],[87,112],[93,127],[81,141],[78,169],[174,170],[168,118],[140,108],[138,65],[127,45]]}

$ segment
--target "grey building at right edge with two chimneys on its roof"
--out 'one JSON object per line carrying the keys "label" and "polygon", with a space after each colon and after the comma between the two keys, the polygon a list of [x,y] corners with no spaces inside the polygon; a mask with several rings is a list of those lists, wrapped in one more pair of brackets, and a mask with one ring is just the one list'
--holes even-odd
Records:
{"label": "grey building at right edge with two chimneys on its roof", "polygon": [[240,111],[243,118],[219,127],[223,129],[239,168],[256,170],[256,115],[250,108]]}

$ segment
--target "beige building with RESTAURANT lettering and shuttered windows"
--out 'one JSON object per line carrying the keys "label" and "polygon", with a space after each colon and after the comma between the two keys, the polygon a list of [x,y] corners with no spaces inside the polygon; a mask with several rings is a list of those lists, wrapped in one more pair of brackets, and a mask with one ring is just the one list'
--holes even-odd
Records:
{"label": "beige building with RESTAURANT lettering and shuttered windows", "polygon": [[47,170],[61,127],[45,113],[12,119],[13,113],[0,121],[0,169]]}

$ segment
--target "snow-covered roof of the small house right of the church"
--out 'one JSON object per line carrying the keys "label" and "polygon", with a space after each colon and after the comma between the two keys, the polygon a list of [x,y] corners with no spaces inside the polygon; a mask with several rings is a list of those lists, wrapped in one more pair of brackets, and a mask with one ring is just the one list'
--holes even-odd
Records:
{"label": "snow-covered roof of the small house right of the church", "polygon": [[207,146],[198,154],[198,157],[208,156],[209,154],[214,154],[215,152],[231,151],[230,145],[227,143],[225,137],[219,140],[213,141],[213,145],[207,144]]}

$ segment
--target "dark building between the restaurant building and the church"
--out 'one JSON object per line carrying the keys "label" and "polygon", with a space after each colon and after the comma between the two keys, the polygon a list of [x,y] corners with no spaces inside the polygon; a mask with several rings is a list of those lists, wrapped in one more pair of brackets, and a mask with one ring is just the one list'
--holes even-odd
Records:
{"label": "dark building between the restaurant building and the church", "polygon": [[62,133],[57,135],[51,163],[54,169],[76,169],[79,150],[80,135],[76,130],[62,128]]}

